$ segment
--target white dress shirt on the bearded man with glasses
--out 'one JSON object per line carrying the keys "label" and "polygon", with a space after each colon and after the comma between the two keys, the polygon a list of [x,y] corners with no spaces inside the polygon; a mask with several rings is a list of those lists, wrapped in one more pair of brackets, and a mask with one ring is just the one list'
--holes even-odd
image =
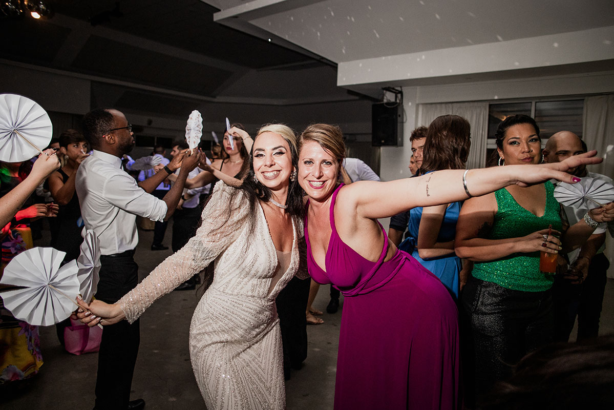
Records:
{"label": "white dress shirt on the bearded man with glasses", "polygon": [[103,255],[136,248],[136,215],[153,221],[166,216],[166,203],[147,194],[122,170],[122,159],[106,152],[94,150],[81,162],[75,187],[85,229],[98,236]]}

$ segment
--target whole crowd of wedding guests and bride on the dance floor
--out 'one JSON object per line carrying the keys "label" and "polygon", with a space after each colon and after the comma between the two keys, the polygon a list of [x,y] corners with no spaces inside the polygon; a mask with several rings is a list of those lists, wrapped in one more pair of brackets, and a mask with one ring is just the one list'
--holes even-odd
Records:
{"label": "whole crowd of wedding guests and bride on the dance floor", "polygon": [[[527,353],[569,339],[576,315],[578,341],[596,339],[614,204],[579,211],[553,195],[559,181],[612,182],[587,173],[600,160],[578,136],[556,133],[542,150],[535,120],[510,116],[495,134],[499,165],[467,170],[470,124],[440,116],[411,134],[414,176],[387,182],[346,158],[343,140],[329,124],[299,135],[268,124],[254,138],[233,124],[217,158],[177,140],[171,160],[156,147],[135,162],[124,114],[95,109],[83,133],[62,133],[58,151],[28,162],[29,175],[2,164],[3,262],[27,247],[14,245],[27,236],[23,218],[57,215],[52,244],[66,261],[84,229],[101,242],[96,298],[79,300],[74,315],[104,327],[95,409],[144,408],[130,400],[139,317],[197,282],[205,291],[190,358],[209,409],[286,408],[284,379],[306,358],[306,324],[323,322],[311,306],[321,284],[331,284],[329,313],[344,296],[338,410],[487,408],[501,383],[518,382],[515,365],[527,372]],[[29,203],[45,180],[52,200]],[[165,248],[174,219],[173,254],[141,283],[137,216],[156,221],[152,251]],[[386,233],[378,218],[389,216]],[[557,255],[557,275],[540,271],[540,252]],[[37,340],[35,326],[17,322],[2,311],[3,341],[21,328]],[[41,364],[36,344],[11,342],[32,358],[16,365],[3,353],[2,382]]]}

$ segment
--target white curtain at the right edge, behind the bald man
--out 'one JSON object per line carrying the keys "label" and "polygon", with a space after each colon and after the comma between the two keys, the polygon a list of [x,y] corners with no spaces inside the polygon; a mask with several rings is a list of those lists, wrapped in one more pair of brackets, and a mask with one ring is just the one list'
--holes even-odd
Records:
{"label": "white curtain at the right edge, behind the bald man", "polygon": [[[614,94],[585,98],[582,139],[588,149],[596,149],[604,159],[601,164],[589,165],[588,170],[614,178]],[[604,253],[610,262],[614,261],[614,241],[608,234]],[[614,263],[610,264],[608,277],[614,278]]]}

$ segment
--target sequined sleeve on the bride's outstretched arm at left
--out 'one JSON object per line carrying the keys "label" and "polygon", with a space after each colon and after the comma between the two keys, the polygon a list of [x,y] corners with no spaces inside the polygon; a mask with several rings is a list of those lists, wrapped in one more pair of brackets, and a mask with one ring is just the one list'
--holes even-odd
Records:
{"label": "sequined sleeve on the bride's outstretched arm at left", "polygon": [[219,181],[203,210],[196,235],[120,299],[128,322],[137,320],[154,301],[200,272],[236,240],[244,228],[249,201],[242,191],[235,191]]}

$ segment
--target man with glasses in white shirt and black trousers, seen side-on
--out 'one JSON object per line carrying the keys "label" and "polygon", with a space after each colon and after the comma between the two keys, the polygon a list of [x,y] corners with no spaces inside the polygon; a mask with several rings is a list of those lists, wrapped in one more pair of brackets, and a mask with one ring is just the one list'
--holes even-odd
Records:
{"label": "man with glasses in white shirt and black trousers, seen side-on", "polygon": [[[115,303],[138,283],[138,266],[133,258],[138,244],[136,216],[161,221],[173,215],[185,179],[198,164],[199,156],[181,154],[163,170],[137,184],[122,169],[122,157],[134,145],[132,126],[122,112],[95,109],[85,114],[83,125],[93,152],[77,170],[75,186],[85,228],[93,229],[100,240],[96,298]],[[150,195],[179,167],[177,182],[163,199]],[[144,408],[144,400],[130,401],[138,349],[138,323],[129,325],[121,321],[105,326],[98,353],[95,409]]]}

